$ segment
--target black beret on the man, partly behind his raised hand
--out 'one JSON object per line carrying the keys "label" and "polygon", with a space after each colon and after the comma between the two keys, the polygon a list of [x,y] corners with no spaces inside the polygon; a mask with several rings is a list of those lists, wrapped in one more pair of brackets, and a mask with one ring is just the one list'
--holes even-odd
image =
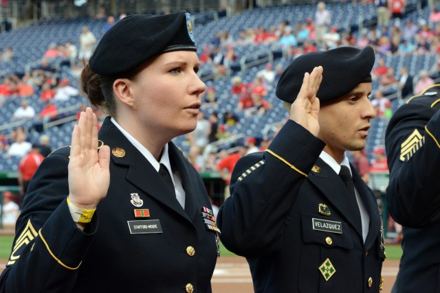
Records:
{"label": "black beret on the man, partly behind his raised hand", "polygon": [[322,82],[317,96],[320,102],[328,102],[349,93],[362,82],[371,82],[371,69],[375,62],[372,47],[360,50],[339,47],[327,51],[315,51],[295,58],[283,71],[276,85],[276,96],[293,103],[303,84],[304,73],[322,66]]}

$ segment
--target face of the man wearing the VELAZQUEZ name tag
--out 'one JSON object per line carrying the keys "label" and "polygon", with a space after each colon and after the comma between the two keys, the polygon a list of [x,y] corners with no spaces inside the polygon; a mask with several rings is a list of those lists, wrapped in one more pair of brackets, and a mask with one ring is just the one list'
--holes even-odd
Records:
{"label": "face of the man wearing the VELAZQUEZ name tag", "polygon": [[369,95],[371,83],[358,84],[350,93],[322,105],[319,113],[318,137],[325,141],[324,150],[341,161],[346,150],[362,150],[375,117]]}

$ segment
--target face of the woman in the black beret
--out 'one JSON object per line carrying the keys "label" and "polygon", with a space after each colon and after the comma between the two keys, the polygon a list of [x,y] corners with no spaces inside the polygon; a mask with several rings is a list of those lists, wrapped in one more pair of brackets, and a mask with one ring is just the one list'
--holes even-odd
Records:
{"label": "face of the woman in the black beret", "polygon": [[148,62],[131,85],[140,130],[172,139],[195,129],[206,89],[199,67],[193,51],[168,52]]}

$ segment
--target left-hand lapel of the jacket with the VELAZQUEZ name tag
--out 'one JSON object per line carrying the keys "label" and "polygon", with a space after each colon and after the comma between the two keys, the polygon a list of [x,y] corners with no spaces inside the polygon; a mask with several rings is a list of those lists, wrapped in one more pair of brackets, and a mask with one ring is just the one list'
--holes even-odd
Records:
{"label": "left-hand lapel of the jacket with the VELAZQUEZ name tag", "polygon": [[314,172],[312,169],[307,179],[320,189],[322,194],[347,219],[347,222],[353,226],[362,239],[362,225],[359,223],[358,215],[353,211],[349,200],[344,200],[350,196],[349,191],[347,191],[338,174],[322,159],[318,159],[316,165],[320,168],[319,172]]}

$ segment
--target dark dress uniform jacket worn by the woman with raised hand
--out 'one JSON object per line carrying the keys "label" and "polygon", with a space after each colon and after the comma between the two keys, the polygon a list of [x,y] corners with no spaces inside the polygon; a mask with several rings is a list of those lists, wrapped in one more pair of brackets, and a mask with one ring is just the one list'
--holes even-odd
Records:
{"label": "dark dress uniform jacket worn by the woman with raised hand", "polygon": [[[69,147],[57,150],[43,160],[25,196],[0,292],[211,292],[217,236],[203,224],[201,208],[211,206],[197,171],[168,143],[186,191],[184,210],[109,118],[99,139],[126,154],[111,154],[109,191],[92,222],[83,232],[72,220]],[[142,207],[131,204],[133,193]],[[148,209],[150,218],[135,218],[134,209]],[[159,220],[163,233],[131,234],[127,221],[133,220]]]}

